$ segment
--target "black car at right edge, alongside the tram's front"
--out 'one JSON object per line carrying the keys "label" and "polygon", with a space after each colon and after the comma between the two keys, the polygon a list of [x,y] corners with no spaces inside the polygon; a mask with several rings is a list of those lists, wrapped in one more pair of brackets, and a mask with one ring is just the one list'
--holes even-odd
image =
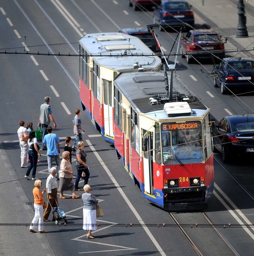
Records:
{"label": "black car at right edge, alongside the tram's front", "polygon": [[231,115],[223,117],[216,125],[212,119],[214,152],[222,153],[223,162],[236,156],[254,156],[254,115]]}

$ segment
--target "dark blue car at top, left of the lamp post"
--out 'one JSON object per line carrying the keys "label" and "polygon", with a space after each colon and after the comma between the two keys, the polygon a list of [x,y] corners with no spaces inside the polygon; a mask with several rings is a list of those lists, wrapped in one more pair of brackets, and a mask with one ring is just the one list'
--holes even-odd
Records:
{"label": "dark blue car at top, left of the lamp post", "polygon": [[194,26],[194,14],[191,5],[183,1],[162,1],[154,10],[153,21],[160,24],[160,31],[167,27],[179,26],[179,23],[188,23]]}

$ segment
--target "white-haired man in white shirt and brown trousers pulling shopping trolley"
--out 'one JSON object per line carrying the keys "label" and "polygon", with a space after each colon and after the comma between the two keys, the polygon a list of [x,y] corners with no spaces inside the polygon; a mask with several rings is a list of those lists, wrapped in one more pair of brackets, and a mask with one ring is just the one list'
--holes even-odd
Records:
{"label": "white-haired man in white shirt and brown trousers pulling shopping trolley", "polygon": [[[47,206],[43,214],[43,220],[44,221],[50,221],[48,219],[50,212],[51,212],[51,207],[57,207],[58,205],[58,199],[57,199],[57,181],[56,181],[56,167],[50,168],[50,175],[47,178],[46,181],[46,189],[47,189]],[[50,206],[51,204],[51,206]],[[53,215],[52,221],[55,221],[55,217]]]}

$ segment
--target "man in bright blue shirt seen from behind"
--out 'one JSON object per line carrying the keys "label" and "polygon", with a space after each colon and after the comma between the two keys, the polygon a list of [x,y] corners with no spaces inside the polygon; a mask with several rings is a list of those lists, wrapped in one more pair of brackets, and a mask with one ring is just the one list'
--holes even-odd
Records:
{"label": "man in bright blue shirt seen from behind", "polygon": [[53,128],[51,126],[47,128],[47,132],[48,134],[44,136],[42,143],[46,143],[47,145],[48,173],[50,173],[53,159],[56,161],[56,170],[60,170],[60,139],[56,133],[53,133]]}

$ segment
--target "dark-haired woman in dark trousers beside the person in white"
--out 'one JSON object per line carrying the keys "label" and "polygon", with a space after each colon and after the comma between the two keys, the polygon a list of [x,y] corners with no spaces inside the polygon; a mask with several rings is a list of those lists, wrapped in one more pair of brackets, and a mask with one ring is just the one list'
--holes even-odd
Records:
{"label": "dark-haired woman in dark trousers beside the person in white", "polygon": [[35,178],[35,174],[36,174],[36,169],[37,169],[37,160],[38,160],[38,155],[41,157],[40,154],[40,147],[37,143],[37,139],[35,137],[35,131],[30,131],[29,133],[29,140],[28,140],[28,157],[29,157],[29,162],[30,165],[27,168],[27,172],[25,173],[24,178],[26,178],[27,180],[29,179],[29,174],[31,172],[31,170],[33,169],[32,172],[32,180],[37,180],[37,178]]}

